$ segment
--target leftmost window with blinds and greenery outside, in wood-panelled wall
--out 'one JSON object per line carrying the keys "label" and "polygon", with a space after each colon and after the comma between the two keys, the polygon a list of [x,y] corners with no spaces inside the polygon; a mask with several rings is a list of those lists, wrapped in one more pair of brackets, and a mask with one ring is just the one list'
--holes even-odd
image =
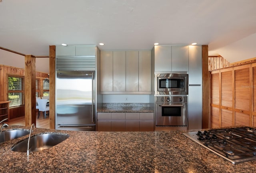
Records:
{"label": "leftmost window with blinds and greenery outside, in wood-panelled wall", "polygon": [[24,77],[8,77],[10,107],[24,105]]}

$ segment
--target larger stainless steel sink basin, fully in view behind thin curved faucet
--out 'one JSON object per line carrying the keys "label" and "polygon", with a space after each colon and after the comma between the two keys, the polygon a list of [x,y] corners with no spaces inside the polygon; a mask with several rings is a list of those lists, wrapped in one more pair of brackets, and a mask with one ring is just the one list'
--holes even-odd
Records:
{"label": "larger stainless steel sink basin, fully in view behind thin curved faucet", "polygon": [[[31,151],[42,151],[43,149],[53,147],[54,145],[57,145],[60,142],[66,140],[68,137],[69,135],[66,134],[40,134],[33,136],[30,138]],[[28,139],[14,145],[11,147],[11,150],[26,153],[27,148]]]}

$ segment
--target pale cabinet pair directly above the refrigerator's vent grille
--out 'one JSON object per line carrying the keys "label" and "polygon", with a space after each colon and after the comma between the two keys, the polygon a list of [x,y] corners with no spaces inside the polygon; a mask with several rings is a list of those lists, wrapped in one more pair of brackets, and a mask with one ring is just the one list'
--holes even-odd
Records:
{"label": "pale cabinet pair directly above the refrigerator's vent grille", "polygon": [[56,56],[95,56],[96,46],[56,46]]}

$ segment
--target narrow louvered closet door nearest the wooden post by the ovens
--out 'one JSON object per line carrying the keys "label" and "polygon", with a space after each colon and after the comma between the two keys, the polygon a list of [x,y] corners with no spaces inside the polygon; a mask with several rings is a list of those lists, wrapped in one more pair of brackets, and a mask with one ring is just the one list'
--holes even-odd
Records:
{"label": "narrow louvered closet door nearest the wooden post by the ovens", "polygon": [[210,116],[210,127],[220,127],[220,73],[219,71],[211,72],[211,116]]}

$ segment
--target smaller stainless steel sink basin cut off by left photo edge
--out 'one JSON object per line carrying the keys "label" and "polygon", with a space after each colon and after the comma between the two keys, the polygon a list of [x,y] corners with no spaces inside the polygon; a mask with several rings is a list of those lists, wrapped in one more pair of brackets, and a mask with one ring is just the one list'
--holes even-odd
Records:
{"label": "smaller stainless steel sink basin cut off by left photo edge", "polygon": [[20,138],[22,136],[28,135],[29,131],[26,130],[9,130],[9,131],[4,131],[0,133],[0,143],[6,142],[6,141],[11,141],[16,138]]}

